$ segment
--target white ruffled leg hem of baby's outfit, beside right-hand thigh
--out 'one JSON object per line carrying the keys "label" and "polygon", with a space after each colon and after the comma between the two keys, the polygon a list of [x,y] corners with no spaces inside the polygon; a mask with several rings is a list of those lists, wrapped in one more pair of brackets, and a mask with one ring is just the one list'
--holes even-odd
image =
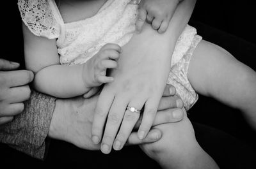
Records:
{"label": "white ruffled leg hem of baby's outfit, beside right-hand thigh", "polygon": [[[194,28],[193,30],[195,31]],[[193,89],[193,87],[191,86],[188,80],[189,62],[191,60],[191,57],[193,55],[193,52],[196,46],[202,40],[201,36],[198,36],[194,33],[193,31],[190,34],[183,33],[183,34],[186,34],[186,38],[184,36],[184,40],[183,40],[182,36],[180,36],[179,41],[177,41],[177,45],[175,47],[176,52],[173,53],[173,58],[176,59],[175,60],[176,62],[173,63],[172,61],[172,65],[173,65],[172,70],[170,71],[169,77],[167,80],[167,84],[171,84],[175,87],[176,89],[175,95],[178,96],[180,99],[182,99],[184,103],[184,107],[187,111],[191,107],[193,107],[193,105],[198,100],[198,94],[195,92],[195,90]],[[188,37],[188,36],[191,36],[191,37]],[[182,44],[183,45],[186,44],[186,46],[183,46]],[[179,48],[183,50],[180,50],[180,52],[177,52]],[[180,59],[177,60],[178,58]]]}

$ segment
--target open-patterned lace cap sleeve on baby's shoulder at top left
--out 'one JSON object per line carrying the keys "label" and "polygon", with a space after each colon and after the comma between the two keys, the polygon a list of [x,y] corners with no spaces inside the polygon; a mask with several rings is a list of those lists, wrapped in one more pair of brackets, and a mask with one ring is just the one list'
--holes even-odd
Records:
{"label": "open-patterned lace cap sleeve on baby's shoulder at top left", "polygon": [[48,0],[19,0],[18,7],[22,21],[33,34],[49,39],[60,36],[60,25]]}

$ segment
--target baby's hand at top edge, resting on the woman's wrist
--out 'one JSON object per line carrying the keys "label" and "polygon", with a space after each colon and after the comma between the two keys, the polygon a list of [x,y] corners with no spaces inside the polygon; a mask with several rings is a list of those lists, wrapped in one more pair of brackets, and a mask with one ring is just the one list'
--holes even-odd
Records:
{"label": "baby's hand at top edge, resting on the woman's wrist", "polygon": [[136,31],[140,32],[145,20],[153,29],[164,33],[169,26],[177,5],[182,0],[141,0],[138,9]]}

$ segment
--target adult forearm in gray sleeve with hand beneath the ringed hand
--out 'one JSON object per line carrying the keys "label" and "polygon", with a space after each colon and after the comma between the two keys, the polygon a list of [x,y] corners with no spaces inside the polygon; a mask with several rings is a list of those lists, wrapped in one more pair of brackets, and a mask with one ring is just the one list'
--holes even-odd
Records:
{"label": "adult forearm in gray sleeve with hand beneath the ringed hand", "polygon": [[[183,117],[182,111],[175,108],[177,99],[170,97],[175,94],[175,89],[171,87],[174,92],[168,94],[169,88],[170,86],[166,87],[164,97],[159,104],[159,113],[154,122],[156,125],[177,122]],[[94,145],[90,139],[96,102],[96,96],[90,99],[56,100],[52,96],[32,91],[22,114],[17,115],[13,122],[0,127],[0,142],[39,159],[45,156],[47,136],[74,143],[83,149],[99,149],[99,146]],[[172,107],[174,109],[170,109]],[[154,129],[150,133],[152,135],[143,141],[138,140],[136,133],[132,133],[129,143],[154,142],[161,138],[159,130]]]}

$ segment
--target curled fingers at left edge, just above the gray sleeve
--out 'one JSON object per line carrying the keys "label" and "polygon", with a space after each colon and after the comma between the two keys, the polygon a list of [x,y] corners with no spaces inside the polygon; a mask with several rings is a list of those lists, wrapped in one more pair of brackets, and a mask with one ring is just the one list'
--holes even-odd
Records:
{"label": "curled fingers at left edge, just above the gray sleeve", "polygon": [[[19,63],[0,59],[0,125],[12,121],[24,109],[30,96],[27,85],[34,78],[31,71],[16,70]],[[16,71],[13,71],[16,70]]]}

